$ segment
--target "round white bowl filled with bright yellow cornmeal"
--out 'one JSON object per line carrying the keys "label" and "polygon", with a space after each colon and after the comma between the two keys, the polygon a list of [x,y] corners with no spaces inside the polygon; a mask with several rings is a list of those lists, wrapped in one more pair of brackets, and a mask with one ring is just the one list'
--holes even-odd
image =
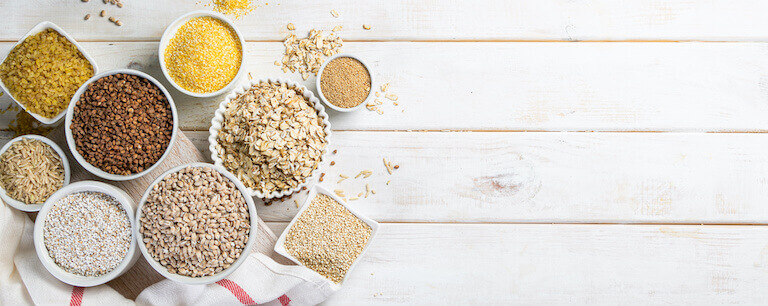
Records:
{"label": "round white bowl filled with bright yellow cornmeal", "polygon": [[174,20],[160,40],[160,68],[182,93],[214,97],[237,84],[244,73],[245,40],[226,16],[194,11]]}

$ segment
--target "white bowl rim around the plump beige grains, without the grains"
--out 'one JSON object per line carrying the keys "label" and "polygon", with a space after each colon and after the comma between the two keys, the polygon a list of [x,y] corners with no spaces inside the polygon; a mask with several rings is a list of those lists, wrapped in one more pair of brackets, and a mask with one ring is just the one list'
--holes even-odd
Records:
{"label": "white bowl rim around the plump beige grains, without the grains", "polygon": [[[243,249],[243,252],[240,253],[240,257],[238,257],[237,260],[235,260],[235,262],[232,263],[232,265],[229,266],[229,268],[227,268],[226,270],[211,276],[189,277],[189,276],[183,276],[183,275],[168,272],[168,269],[163,267],[159,262],[155,261],[155,259],[152,258],[152,255],[149,254],[149,251],[147,251],[147,246],[144,245],[144,238],[141,232],[139,231],[139,229],[141,229],[141,214],[142,214],[141,209],[142,207],[144,207],[144,204],[147,203],[147,197],[149,197],[150,191],[152,191],[155,185],[157,185],[157,183],[162,181],[169,174],[178,172],[187,167],[193,167],[193,168],[210,167],[213,170],[221,173],[221,175],[228,178],[230,181],[232,181],[232,183],[235,184],[235,186],[237,186],[237,189],[240,190],[240,193],[243,195],[243,198],[245,198],[245,203],[246,205],[248,205],[248,213],[250,214],[249,221],[251,224],[251,229],[250,229],[250,232],[248,233],[248,241],[245,243],[245,249]],[[248,192],[245,186],[243,185],[243,183],[240,182],[240,180],[237,179],[237,177],[235,177],[234,174],[230,173],[229,171],[224,169],[224,167],[220,167],[220,166],[215,166],[207,163],[189,163],[189,164],[184,164],[178,167],[174,167],[173,169],[166,171],[165,173],[158,176],[157,179],[155,179],[155,181],[149,185],[149,187],[147,188],[147,191],[144,192],[144,196],[141,197],[141,202],[139,202],[139,208],[136,210],[136,227],[134,228],[133,234],[138,238],[139,249],[141,250],[141,253],[144,255],[144,258],[147,260],[147,262],[149,262],[149,265],[152,266],[152,268],[155,269],[155,271],[157,271],[157,273],[160,273],[160,275],[164,276],[167,279],[170,279],[172,281],[179,282],[182,284],[206,285],[206,284],[218,282],[226,278],[227,276],[232,274],[232,272],[235,272],[235,270],[237,270],[237,268],[240,267],[240,265],[242,265],[243,262],[245,262],[245,260],[248,258],[248,254],[251,252],[251,249],[253,249],[253,245],[256,243],[256,239],[257,239],[256,233],[258,232],[258,226],[259,226],[258,216],[256,215],[256,206],[253,204],[253,198],[248,196]]]}

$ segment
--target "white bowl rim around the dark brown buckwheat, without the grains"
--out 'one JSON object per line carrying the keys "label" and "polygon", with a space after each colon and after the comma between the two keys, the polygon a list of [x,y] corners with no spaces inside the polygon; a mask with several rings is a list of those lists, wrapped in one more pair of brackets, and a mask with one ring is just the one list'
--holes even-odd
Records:
{"label": "white bowl rim around the dark brown buckwheat, without the grains", "polygon": [[[171,114],[173,115],[173,131],[171,132],[171,141],[168,143],[168,148],[165,149],[165,153],[163,153],[163,155],[160,156],[160,159],[158,159],[157,162],[155,162],[155,164],[152,165],[151,167],[144,169],[144,171],[141,171],[139,173],[134,173],[130,175],[117,175],[117,174],[108,173],[85,161],[85,158],[83,158],[83,156],[80,155],[79,152],[77,152],[77,148],[75,147],[75,138],[72,136],[72,129],[71,129],[72,116],[74,116],[75,106],[77,105],[77,101],[80,100],[80,96],[85,92],[86,89],[88,89],[88,85],[105,76],[110,76],[110,75],[120,74],[120,73],[139,76],[149,80],[150,82],[152,82],[152,84],[155,84],[155,86],[157,86],[157,88],[160,88],[160,90],[163,92],[163,95],[165,95],[165,97],[168,99],[168,104],[171,105]],[[151,77],[150,75],[144,72],[133,70],[133,69],[117,69],[117,70],[105,71],[90,78],[87,82],[85,82],[85,84],[83,84],[83,86],[80,86],[80,89],[78,89],[75,95],[72,96],[72,101],[69,102],[69,110],[67,110],[67,116],[64,124],[64,132],[67,138],[67,146],[69,146],[69,151],[72,152],[72,156],[75,157],[75,160],[77,161],[77,163],[83,166],[83,168],[85,168],[85,170],[87,170],[88,172],[93,173],[94,175],[100,178],[108,179],[112,181],[127,181],[135,178],[139,178],[149,173],[150,171],[154,170],[155,168],[157,168],[157,166],[160,165],[163,162],[163,160],[165,160],[166,157],[168,157],[168,153],[171,152],[171,148],[173,147],[173,144],[176,142],[176,135],[178,134],[178,130],[179,130],[179,114],[176,112],[176,104],[173,103],[173,98],[171,97],[171,94],[169,94],[168,90],[165,89],[163,84],[160,84],[160,82],[155,80],[155,78]]]}

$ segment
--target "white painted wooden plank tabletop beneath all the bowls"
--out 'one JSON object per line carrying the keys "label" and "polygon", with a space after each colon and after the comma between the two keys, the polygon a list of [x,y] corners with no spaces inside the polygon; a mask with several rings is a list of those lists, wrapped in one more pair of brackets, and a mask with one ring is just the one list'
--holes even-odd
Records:
{"label": "white painted wooden plank tabletop beneath all the bowls", "polygon": [[[123,2],[0,1],[0,54],[49,20],[103,70],[163,79],[165,26],[202,6]],[[384,115],[330,114],[323,184],[352,194],[365,183],[338,174],[374,170],[378,193],[353,204],[383,226],[328,305],[768,298],[768,2],[268,2],[236,22],[254,78],[300,80],[273,65],[288,22],[343,25],[343,51],[400,97]],[[82,20],[104,7],[124,25]],[[221,98],[173,95],[207,151]],[[295,212],[259,207],[276,232]]]}

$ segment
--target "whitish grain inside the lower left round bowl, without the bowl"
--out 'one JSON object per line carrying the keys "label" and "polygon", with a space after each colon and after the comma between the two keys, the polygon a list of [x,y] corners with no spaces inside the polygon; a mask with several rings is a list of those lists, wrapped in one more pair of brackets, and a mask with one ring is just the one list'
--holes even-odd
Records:
{"label": "whitish grain inside the lower left round bowl, without the bowl", "polygon": [[45,218],[43,241],[62,269],[100,276],[114,270],[128,254],[131,222],[112,196],[73,193],[51,207]]}

